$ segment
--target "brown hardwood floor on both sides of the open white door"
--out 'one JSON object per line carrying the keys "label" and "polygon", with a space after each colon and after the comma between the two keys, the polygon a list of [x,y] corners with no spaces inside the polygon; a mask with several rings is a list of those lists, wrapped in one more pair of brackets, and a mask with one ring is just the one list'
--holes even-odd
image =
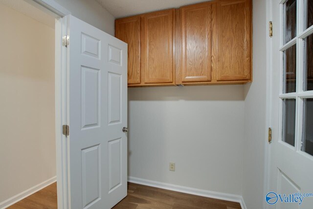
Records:
{"label": "brown hardwood floor on both sides of the open white door", "polygon": [[[56,209],[56,183],[8,209]],[[239,203],[128,183],[128,196],[113,209],[241,209]]]}

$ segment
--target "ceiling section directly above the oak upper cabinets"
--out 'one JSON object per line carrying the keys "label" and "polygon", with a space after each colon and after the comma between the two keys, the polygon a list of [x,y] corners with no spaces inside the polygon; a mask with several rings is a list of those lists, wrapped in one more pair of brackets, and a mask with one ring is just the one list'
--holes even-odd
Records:
{"label": "ceiling section directly above the oak upper cabinets", "polygon": [[122,18],[207,0],[96,0],[115,18]]}

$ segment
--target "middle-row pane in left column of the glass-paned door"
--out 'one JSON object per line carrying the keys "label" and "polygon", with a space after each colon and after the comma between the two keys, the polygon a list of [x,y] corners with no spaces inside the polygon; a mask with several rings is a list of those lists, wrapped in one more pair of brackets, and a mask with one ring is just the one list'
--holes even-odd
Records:
{"label": "middle-row pane in left column of the glass-paned door", "polygon": [[296,46],[284,51],[284,88],[283,93],[295,92],[296,83]]}

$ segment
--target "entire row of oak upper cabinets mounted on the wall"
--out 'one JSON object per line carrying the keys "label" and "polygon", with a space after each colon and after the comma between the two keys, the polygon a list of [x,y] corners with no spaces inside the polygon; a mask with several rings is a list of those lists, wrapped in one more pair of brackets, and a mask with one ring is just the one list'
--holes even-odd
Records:
{"label": "entire row of oak upper cabinets mounted on the wall", "polygon": [[122,18],[128,86],[244,84],[252,80],[252,0],[211,0]]}

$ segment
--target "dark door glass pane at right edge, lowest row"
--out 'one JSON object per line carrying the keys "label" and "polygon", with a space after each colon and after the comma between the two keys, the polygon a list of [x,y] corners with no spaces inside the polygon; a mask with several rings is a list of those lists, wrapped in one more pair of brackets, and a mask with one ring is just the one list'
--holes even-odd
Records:
{"label": "dark door glass pane at right edge, lowest row", "polygon": [[313,99],[304,99],[301,150],[313,155]]}

